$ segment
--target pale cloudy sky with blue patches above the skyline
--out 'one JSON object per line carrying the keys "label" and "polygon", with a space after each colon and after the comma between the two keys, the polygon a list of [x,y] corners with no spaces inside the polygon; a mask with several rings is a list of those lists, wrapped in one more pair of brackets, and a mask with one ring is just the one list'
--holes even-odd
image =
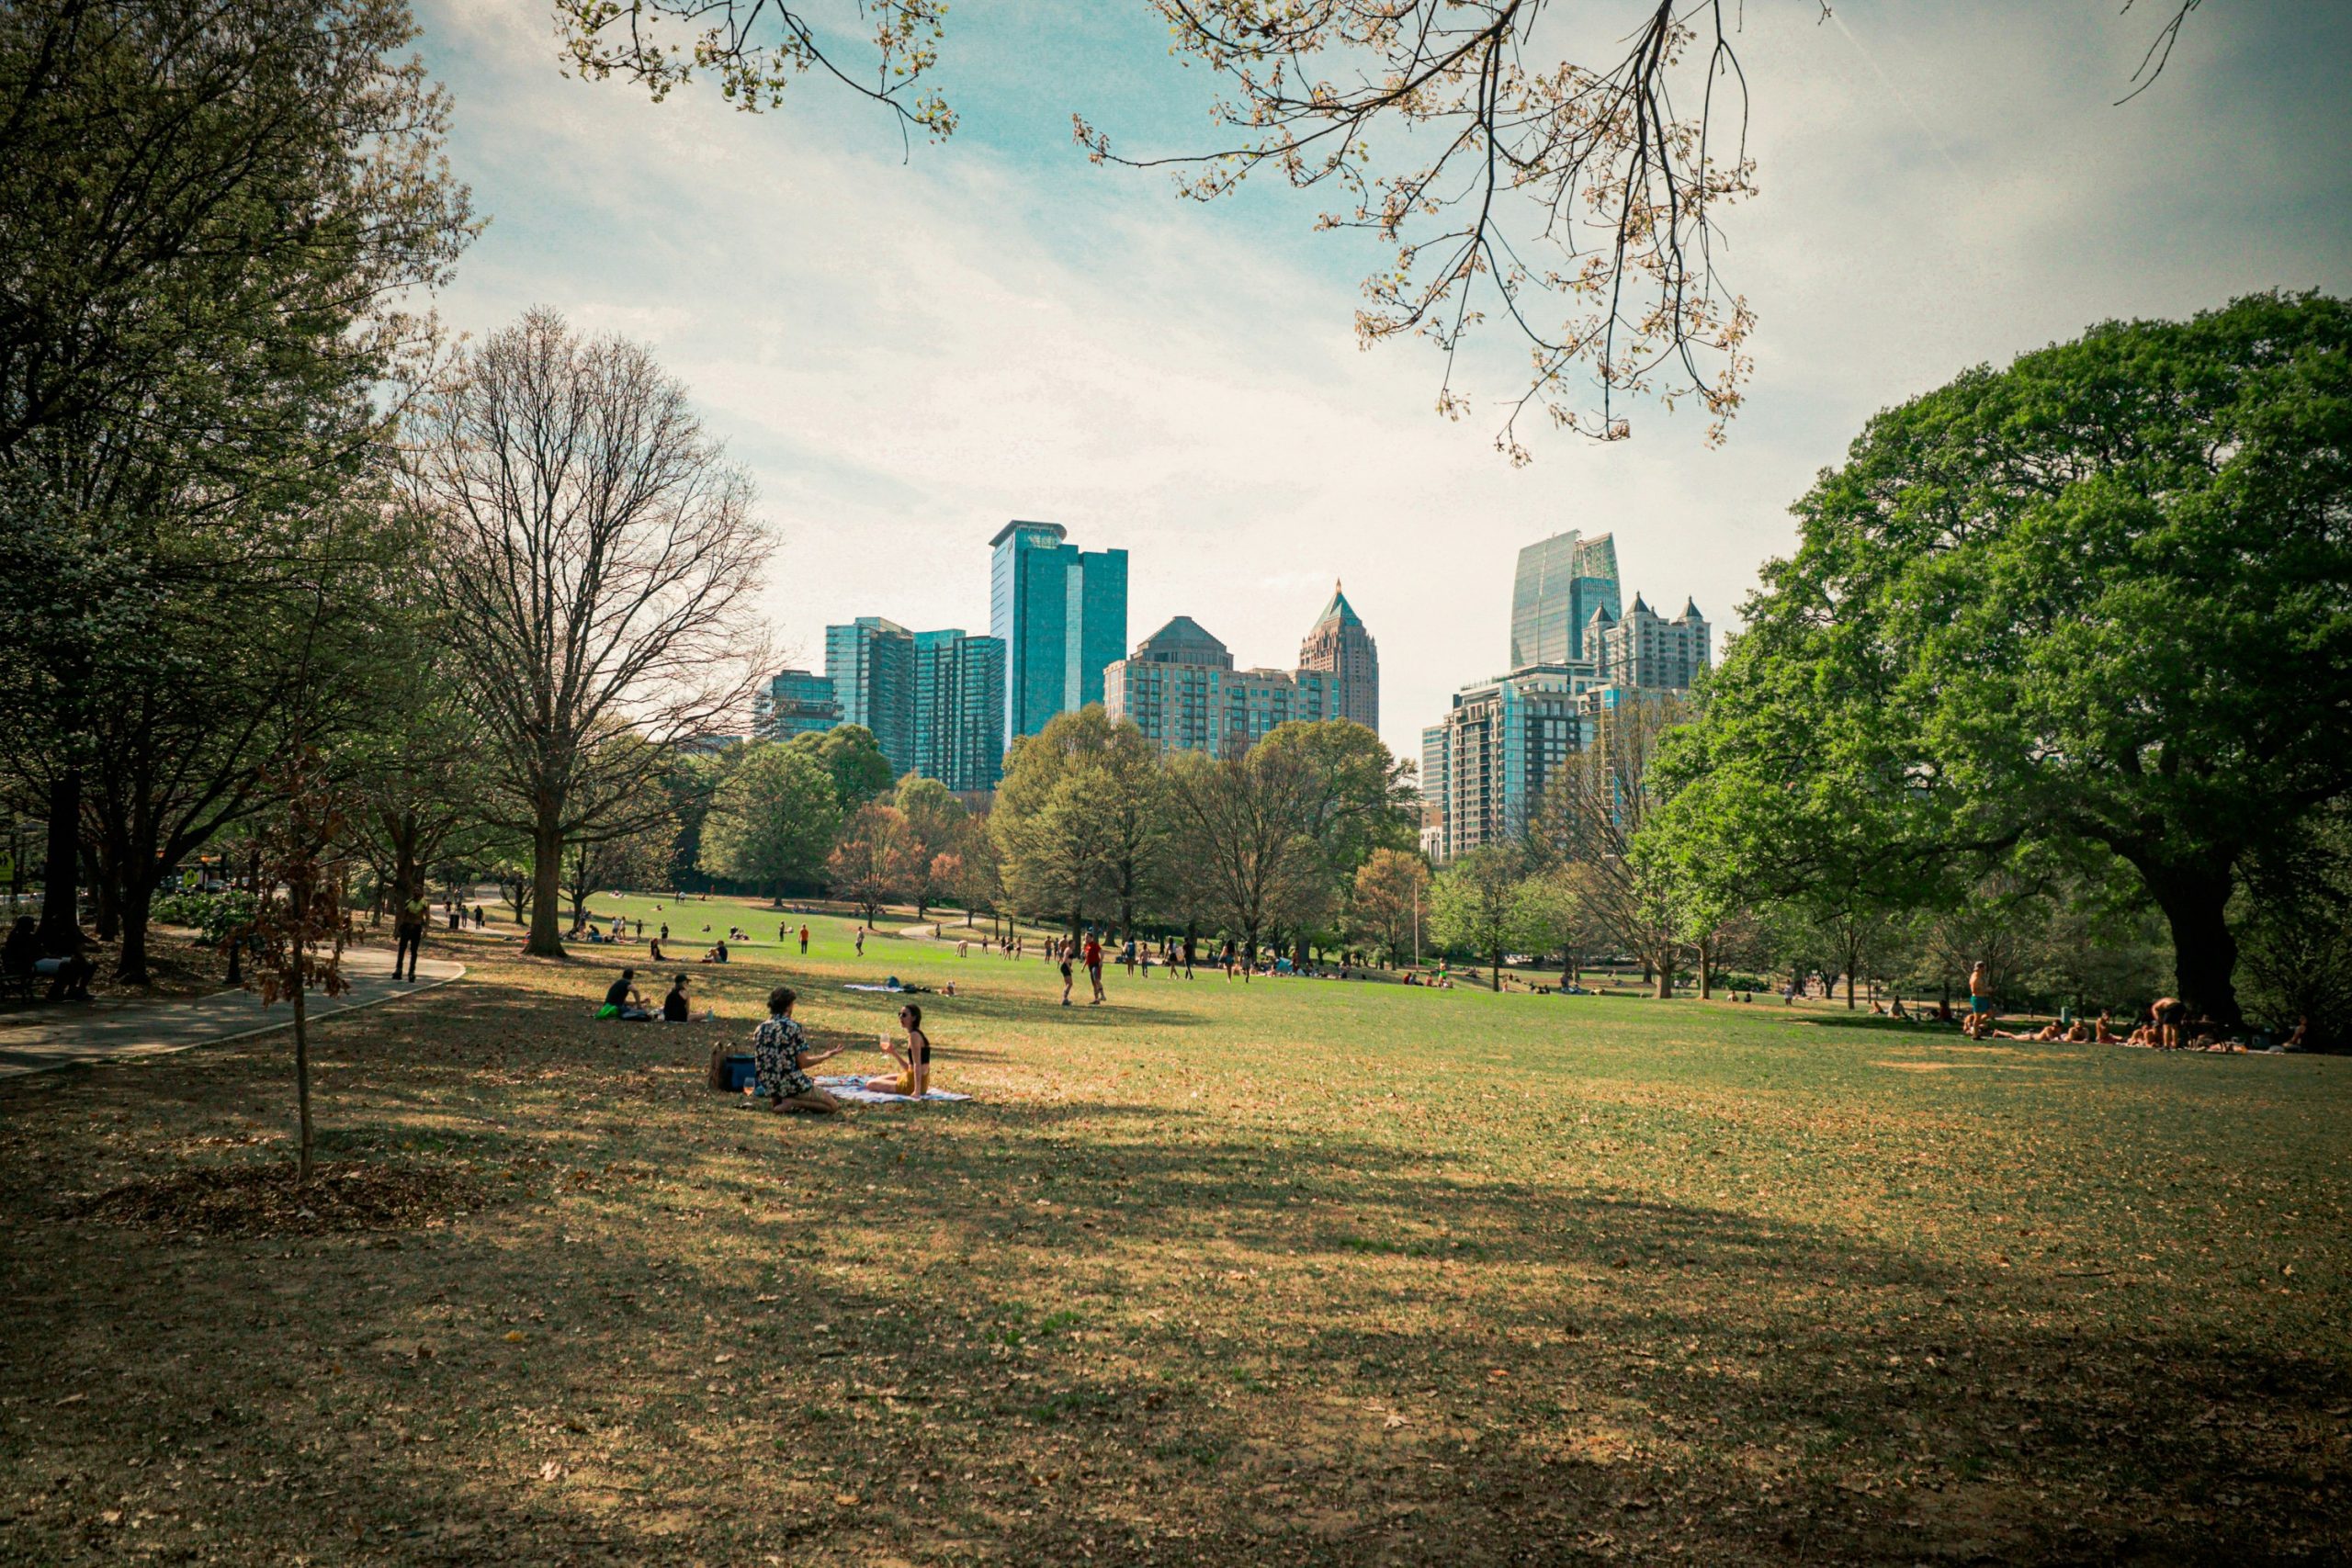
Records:
{"label": "pale cloudy sky with blue patches above the skyline", "polygon": [[[1628,602],[1693,599],[1719,649],[1875,411],[2100,320],[2352,292],[2352,7],[2211,0],[2117,106],[2171,9],[2117,2],[1740,7],[1759,195],[1724,214],[1719,270],[1757,329],[1722,447],[1635,404],[1630,440],[1538,430],[1512,468],[1494,360],[1449,421],[1430,348],[1359,348],[1378,254],[1315,233],[1315,195],[1200,205],[1089,165],[1073,113],[1122,153],[1211,141],[1216,85],[1143,0],[950,7],[962,127],[913,146],[816,78],[760,115],[652,103],[564,78],[541,0],[416,0],[489,216],[437,308],[480,339],[553,306],[656,350],[760,487],[790,663],[821,668],[854,616],[985,632],[988,538],[1047,520],[1129,552],[1129,644],[1188,614],[1289,668],[1343,581],[1381,733],[1418,757],[1451,691],[1505,668],[1536,538],[1613,534]],[[1602,59],[1630,12],[1559,14],[1564,56]]]}

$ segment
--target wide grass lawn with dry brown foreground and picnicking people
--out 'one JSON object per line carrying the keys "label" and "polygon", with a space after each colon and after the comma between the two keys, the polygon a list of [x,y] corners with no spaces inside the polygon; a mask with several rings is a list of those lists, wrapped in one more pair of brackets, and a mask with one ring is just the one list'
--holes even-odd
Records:
{"label": "wide grass lawn with dry brown foreground and picnicking people", "polygon": [[[327,1159],[475,1187],[402,1232],[78,1218],[285,1159],[285,1034],[0,1086],[0,1559],[2347,1554],[2352,1060],[1209,971],[1063,1011],[809,926],[684,1027],[590,1025],[640,945],[435,933],[463,983],[315,1046]],[[870,1044],[882,973],[957,980],[976,1103],[703,1091],[779,980]]]}

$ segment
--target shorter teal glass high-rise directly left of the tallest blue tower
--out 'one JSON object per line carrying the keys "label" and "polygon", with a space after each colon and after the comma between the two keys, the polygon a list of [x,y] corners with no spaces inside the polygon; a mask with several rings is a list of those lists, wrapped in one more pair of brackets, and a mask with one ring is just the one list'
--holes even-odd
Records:
{"label": "shorter teal glass high-rise directly left of the tallest blue tower", "polygon": [[863,724],[894,773],[993,790],[1004,764],[1004,644],[882,616],[826,628],[842,724]]}

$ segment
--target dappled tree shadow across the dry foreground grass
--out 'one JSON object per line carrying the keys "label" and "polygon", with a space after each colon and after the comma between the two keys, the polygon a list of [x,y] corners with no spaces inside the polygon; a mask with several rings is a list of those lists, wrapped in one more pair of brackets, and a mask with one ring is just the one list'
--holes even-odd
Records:
{"label": "dappled tree shadow across the dry foreground grass", "polygon": [[[673,1088],[642,1098],[668,1117],[644,1147],[644,1067],[741,1025],[449,999],[322,1030],[329,1081],[365,1074],[365,1107],[322,1093],[322,1147],[513,1173],[510,1204],[390,1253],[125,1244],[33,1204],[120,1161],[158,1088],[282,1114],[285,1046],[5,1093],[0,1556],[106,1561],[132,1519],[165,1556],[320,1563],[2340,1540],[2312,1474],[2343,1467],[2340,1354],[2084,1312],[2100,1281],[1157,1105],[823,1121],[696,1117]],[[522,1093],[492,1112],[494,1086]],[[73,1161],[33,1161],[26,1121],[68,1112]]]}

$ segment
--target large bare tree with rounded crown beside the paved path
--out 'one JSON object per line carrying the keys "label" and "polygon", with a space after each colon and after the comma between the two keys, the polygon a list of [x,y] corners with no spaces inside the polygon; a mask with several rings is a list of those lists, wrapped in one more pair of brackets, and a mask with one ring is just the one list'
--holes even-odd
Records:
{"label": "large bare tree with rounded crown beside the paved path", "polygon": [[626,339],[529,310],[412,425],[449,651],[487,731],[485,816],[532,844],[532,936],[562,954],[567,844],[644,827],[642,788],[750,701],[771,541],[687,390]]}

